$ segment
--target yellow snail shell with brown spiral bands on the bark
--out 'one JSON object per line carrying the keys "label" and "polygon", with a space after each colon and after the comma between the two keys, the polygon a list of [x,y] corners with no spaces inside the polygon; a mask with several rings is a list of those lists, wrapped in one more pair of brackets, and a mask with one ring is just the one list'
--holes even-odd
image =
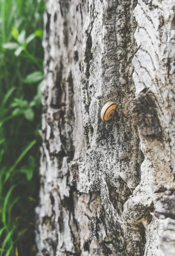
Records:
{"label": "yellow snail shell with brown spiral bands on the bark", "polygon": [[116,109],[116,103],[113,101],[107,102],[101,110],[101,118],[103,121],[112,119]]}

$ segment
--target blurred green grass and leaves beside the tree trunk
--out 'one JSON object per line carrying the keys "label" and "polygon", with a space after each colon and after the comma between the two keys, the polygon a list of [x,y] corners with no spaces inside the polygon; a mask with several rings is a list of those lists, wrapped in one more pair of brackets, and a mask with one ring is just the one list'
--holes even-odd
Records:
{"label": "blurred green grass and leaves beside the tree trunk", "polygon": [[44,0],[0,0],[0,256],[36,255]]}

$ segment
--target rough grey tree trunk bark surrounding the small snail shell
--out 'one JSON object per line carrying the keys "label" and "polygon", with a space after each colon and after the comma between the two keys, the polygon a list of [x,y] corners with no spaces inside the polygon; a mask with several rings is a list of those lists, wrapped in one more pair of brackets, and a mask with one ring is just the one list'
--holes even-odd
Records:
{"label": "rough grey tree trunk bark surrounding the small snail shell", "polygon": [[47,0],[38,256],[175,255],[174,9]]}

